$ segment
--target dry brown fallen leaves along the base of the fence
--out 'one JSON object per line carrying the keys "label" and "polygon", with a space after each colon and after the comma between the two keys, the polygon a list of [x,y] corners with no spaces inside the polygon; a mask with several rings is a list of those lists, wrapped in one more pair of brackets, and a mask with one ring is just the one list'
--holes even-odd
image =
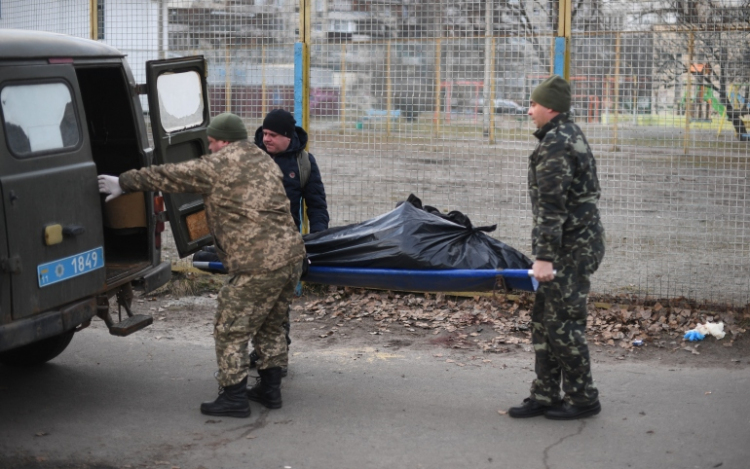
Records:
{"label": "dry brown fallen leaves along the base of the fence", "polygon": [[[534,296],[495,293],[459,297],[443,293],[402,293],[348,287],[324,287],[295,306],[295,321],[332,323],[321,327],[327,338],[351,321],[372,321],[370,334],[397,328],[410,333],[443,334],[454,348],[507,352],[531,344]],[[750,327],[750,305],[744,308],[699,305],[684,298],[655,300],[628,296],[590,297],[587,334],[595,345],[632,348],[634,343],[682,340],[687,330],[707,322],[723,322],[725,346]],[[493,331],[492,337],[487,337]],[[484,332],[484,334],[482,333]]]}

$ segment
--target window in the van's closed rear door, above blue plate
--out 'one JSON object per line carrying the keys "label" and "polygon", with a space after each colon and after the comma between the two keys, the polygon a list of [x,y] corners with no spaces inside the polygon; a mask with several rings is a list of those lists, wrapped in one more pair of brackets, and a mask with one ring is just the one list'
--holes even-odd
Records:
{"label": "window in the van's closed rear door, above blue plate", "polygon": [[78,120],[64,83],[9,85],[0,91],[0,103],[8,147],[16,156],[78,145]]}

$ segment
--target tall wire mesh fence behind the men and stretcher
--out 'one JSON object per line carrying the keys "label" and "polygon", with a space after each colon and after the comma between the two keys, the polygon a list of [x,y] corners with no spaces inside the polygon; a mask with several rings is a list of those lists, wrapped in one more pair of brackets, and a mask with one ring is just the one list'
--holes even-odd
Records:
{"label": "tall wire mesh fence behind the men and stretcher", "polygon": [[[607,230],[594,291],[750,300],[749,3],[572,3],[573,112]],[[202,54],[212,114],[239,114],[251,132],[268,110],[293,110],[304,40],[310,151],[333,226],[413,193],[497,224],[493,236],[530,254],[526,109],[551,73],[564,4],[0,0],[0,27],[95,37],[128,54],[139,82],[146,60]]]}

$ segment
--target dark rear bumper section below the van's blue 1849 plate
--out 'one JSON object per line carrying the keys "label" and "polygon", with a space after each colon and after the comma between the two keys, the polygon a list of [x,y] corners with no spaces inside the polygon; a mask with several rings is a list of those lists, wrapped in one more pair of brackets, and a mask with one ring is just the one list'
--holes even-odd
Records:
{"label": "dark rear bumper section below the van's blue 1849 plate", "polygon": [[60,335],[96,316],[96,297],[0,326],[0,352]]}

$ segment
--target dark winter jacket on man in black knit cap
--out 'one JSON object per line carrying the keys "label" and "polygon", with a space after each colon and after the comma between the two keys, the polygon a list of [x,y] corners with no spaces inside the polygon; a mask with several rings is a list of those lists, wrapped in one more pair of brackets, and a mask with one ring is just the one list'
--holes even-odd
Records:
{"label": "dark winter jacket on man in black knit cap", "polygon": [[[268,153],[263,144],[263,127],[255,131],[255,144]],[[289,197],[292,218],[300,227],[302,219],[302,199],[307,205],[307,218],[310,221],[310,233],[316,233],[328,229],[328,205],[326,204],[326,191],[323,180],[320,177],[320,169],[315,158],[310,155],[310,178],[303,189],[300,184],[299,167],[297,165],[297,153],[305,149],[307,145],[307,132],[302,127],[296,127],[296,133],[289,143],[289,148],[284,153],[272,155],[273,160],[281,168],[284,174],[284,189]]]}

